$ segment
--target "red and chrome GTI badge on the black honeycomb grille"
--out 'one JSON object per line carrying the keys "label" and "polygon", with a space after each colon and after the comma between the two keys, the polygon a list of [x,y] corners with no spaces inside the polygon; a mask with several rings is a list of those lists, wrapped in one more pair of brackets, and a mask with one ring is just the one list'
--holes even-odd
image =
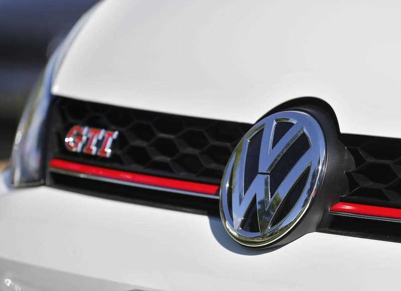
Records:
{"label": "red and chrome GTI badge on the black honeycomb grille", "polygon": [[117,136],[118,131],[74,125],[67,132],[64,142],[70,152],[110,158],[111,144]]}

